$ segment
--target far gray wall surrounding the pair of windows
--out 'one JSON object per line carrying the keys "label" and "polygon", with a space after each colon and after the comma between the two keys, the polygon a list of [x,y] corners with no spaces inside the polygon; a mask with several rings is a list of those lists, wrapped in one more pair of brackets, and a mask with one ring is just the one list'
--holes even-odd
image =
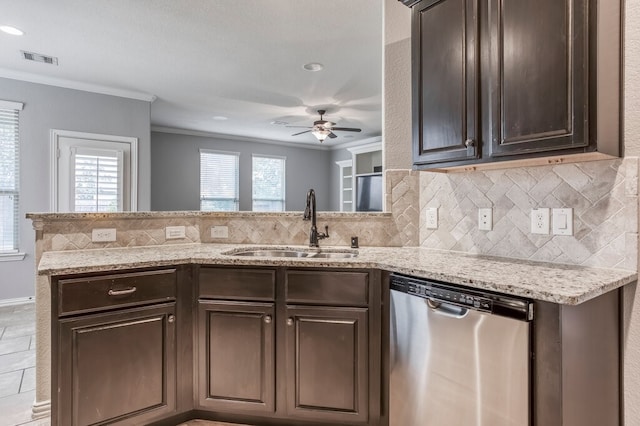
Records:
{"label": "far gray wall surrounding the pair of windows", "polygon": [[151,209],[200,210],[201,148],[240,153],[240,210],[251,210],[251,155],[279,155],[286,160],[287,211],[302,211],[309,188],[318,210],[330,207],[329,151],[207,136],[151,133]]}

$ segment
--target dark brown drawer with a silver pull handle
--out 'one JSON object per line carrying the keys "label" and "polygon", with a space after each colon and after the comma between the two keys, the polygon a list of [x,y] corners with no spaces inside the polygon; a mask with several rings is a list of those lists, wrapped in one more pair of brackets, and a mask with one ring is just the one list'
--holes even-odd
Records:
{"label": "dark brown drawer with a silver pull handle", "polygon": [[175,269],[58,281],[58,314],[61,316],[175,298]]}

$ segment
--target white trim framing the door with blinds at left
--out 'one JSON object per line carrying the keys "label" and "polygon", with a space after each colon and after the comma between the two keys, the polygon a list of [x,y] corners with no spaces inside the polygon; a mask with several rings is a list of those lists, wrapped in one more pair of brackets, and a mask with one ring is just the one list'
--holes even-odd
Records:
{"label": "white trim framing the door with blinds at left", "polygon": [[50,170],[51,170],[51,187],[49,200],[49,208],[52,212],[58,211],[58,150],[60,149],[59,139],[61,137],[77,138],[77,139],[93,139],[97,141],[123,142],[128,143],[131,148],[131,176],[129,184],[129,194],[131,204],[129,211],[138,210],[138,138],[129,136],[101,135],[98,133],[74,132],[71,130],[51,129],[51,152],[50,152]]}

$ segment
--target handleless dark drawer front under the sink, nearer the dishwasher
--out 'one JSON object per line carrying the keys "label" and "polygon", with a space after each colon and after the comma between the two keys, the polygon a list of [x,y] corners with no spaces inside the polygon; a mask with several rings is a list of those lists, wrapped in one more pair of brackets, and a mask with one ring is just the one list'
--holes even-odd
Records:
{"label": "handleless dark drawer front under the sink, nearer the dishwasher", "polygon": [[287,303],[367,306],[367,272],[288,271]]}

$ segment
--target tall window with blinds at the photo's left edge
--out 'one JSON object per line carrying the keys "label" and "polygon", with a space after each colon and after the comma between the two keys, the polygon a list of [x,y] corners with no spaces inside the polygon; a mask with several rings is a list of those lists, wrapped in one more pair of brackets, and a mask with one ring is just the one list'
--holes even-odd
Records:
{"label": "tall window with blinds at the photo's left edge", "polygon": [[21,103],[0,101],[0,253],[18,251],[20,110]]}

